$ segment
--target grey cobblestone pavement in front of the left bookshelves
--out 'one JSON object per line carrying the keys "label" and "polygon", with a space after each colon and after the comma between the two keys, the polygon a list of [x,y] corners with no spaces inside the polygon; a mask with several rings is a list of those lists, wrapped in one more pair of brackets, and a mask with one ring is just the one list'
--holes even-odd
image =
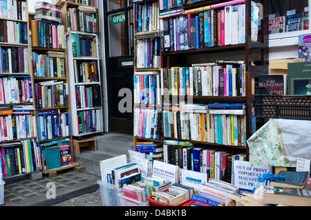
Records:
{"label": "grey cobblestone pavement in front of the left bookshelves", "polygon": [[[53,206],[53,198],[47,199],[47,192],[48,195],[53,195],[53,192],[48,191],[52,189],[49,184],[55,186],[55,201],[59,202],[55,206],[100,206],[100,190],[96,188],[99,179],[93,174],[72,170],[57,172],[57,177],[52,178],[43,175],[36,180],[25,176],[4,179],[2,206]],[[84,192],[88,188],[93,190]],[[75,197],[75,192],[80,193],[78,197]],[[67,195],[70,196],[69,200],[66,200]]]}

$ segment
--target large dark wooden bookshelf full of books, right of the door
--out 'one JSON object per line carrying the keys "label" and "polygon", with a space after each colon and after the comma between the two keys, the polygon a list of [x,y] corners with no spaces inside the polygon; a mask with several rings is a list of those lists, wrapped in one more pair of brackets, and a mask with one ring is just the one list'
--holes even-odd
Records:
{"label": "large dark wooden bookshelf full of books, right of the door", "polygon": [[[158,3],[160,70],[144,70],[149,68],[145,39],[158,32],[142,32],[146,20],[140,13],[148,14],[148,7],[147,12],[140,7],[148,3],[134,3],[134,28],[139,27],[134,103],[140,107],[134,109],[134,150],[162,152],[165,163],[231,183],[232,160],[247,161],[249,156],[254,81],[268,74],[267,1],[260,2],[263,17],[256,3],[247,0]],[[160,86],[156,94],[154,85]],[[147,120],[156,111],[162,112],[161,142],[152,139],[158,124]]]}

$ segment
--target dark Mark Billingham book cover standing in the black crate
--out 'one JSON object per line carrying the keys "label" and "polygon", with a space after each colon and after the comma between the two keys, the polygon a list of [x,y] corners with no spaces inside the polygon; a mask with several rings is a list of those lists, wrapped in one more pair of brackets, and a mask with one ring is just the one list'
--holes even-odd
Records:
{"label": "dark Mark Billingham book cover standing in the black crate", "polygon": [[287,75],[269,74],[258,76],[258,86],[265,87],[270,94],[285,95],[287,90]]}

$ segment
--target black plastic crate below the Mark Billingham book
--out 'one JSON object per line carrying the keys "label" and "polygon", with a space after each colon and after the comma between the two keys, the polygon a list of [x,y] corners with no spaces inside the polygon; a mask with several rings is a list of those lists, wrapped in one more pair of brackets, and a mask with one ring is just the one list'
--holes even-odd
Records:
{"label": "black plastic crate below the Mark Billingham book", "polygon": [[270,94],[255,87],[255,116],[279,119],[311,119],[311,96]]}

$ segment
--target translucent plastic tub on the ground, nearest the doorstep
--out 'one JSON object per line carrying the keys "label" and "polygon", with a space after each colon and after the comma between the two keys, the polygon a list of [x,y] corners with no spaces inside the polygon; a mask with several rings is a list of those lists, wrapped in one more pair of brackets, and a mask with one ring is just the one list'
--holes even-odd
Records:
{"label": "translucent plastic tub on the ground, nearest the doorstep", "polygon": [[120,200],[117,195],[123,192],[123,189],[111,183],[103,183],[102,180],[97,181],[97,183],[100,185],[102,206],[120,206]]}

